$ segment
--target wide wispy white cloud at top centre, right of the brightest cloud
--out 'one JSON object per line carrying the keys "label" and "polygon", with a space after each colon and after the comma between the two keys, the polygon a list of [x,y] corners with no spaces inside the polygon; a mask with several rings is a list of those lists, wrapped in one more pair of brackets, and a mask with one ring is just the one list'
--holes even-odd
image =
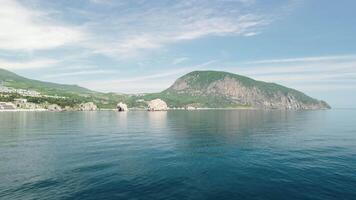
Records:
{"label": "wide wispy white cloud at top centre, right of the brightest cloud", "polygon": [[117,7],[114,7],[120,10],[119,13],[88,14],[91,21],[85,28],[91,36],[83,45],[95,53],[132,57],[169,44],[206,36],[256,35],[271,19],[243,9],[245,7],[242,5],[251,2],[117,2]]}

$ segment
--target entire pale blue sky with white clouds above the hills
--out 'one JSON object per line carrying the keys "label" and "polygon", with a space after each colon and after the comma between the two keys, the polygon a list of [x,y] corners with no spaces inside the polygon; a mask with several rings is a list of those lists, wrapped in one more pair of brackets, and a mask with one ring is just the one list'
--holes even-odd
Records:
{"label": "entire pale blue sky with white clouds above the hills", "polygon": [[158,92],[194,70],[355,107],[356,1],[0,0],[0,68],[102,92]]}

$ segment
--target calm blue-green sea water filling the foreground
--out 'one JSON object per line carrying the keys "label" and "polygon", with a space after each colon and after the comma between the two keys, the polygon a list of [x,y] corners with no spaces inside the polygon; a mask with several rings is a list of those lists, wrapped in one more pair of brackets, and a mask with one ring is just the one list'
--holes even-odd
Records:
{"label": "calm blue-green sea water filling the foreground", "polygon": [[356,110],[0,113],[0,199],[356,199]]}

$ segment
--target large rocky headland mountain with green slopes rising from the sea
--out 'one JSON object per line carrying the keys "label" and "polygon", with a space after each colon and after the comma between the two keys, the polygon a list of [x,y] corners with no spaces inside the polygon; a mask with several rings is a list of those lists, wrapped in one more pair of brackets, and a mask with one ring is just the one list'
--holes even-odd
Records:
{"label": "large rocky headland mountain with green slopes rising from the sea", "polygon": [[145,98],[161,98],[171,107],[330,108],[326,102],[297,90],[220,71],[193,71],[177,79],[163,92],[148,94]]}

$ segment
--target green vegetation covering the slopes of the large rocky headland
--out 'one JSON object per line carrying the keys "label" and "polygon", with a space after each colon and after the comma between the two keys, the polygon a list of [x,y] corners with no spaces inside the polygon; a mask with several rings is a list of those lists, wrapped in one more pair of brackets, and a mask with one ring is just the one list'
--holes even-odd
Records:
{"label": "green vegetation covering the slopes of the large rocky headland", "polygon": [[[261,91],[266,97],[273,97],[276,94],[288,96],[292,95],[297,101],[305,104],[318,104],[319,101],[313,99],[302,92],[284,87],[275,83],[267,83],[257,81],[245,76],[232,74],[221,71],[193,71],[181,78],[179,78],[170,88],[160,93],[149,94],[145,99],[150,100],[154,98],[161,98],[165,100],[168,105],[174,107],[182,107],[185,105],[196,105],[201,107],[241,107],[252,106],[250,104],[238,104],[231,98],[219,94],[210,94],[207,92],[209,86],[216,81],[224,80],[224,78],[231,78],[236,80],[246,88],[256,88]],[[176,84],[184,81],[187,85],[183,90],[175,89]],[[194,91],[199,91],[197,94]],[[324,102],[325,103],[325,102]],[[325,103],[325,105],[327,105]],[[327,106],[326,106],[327,107]]]}

